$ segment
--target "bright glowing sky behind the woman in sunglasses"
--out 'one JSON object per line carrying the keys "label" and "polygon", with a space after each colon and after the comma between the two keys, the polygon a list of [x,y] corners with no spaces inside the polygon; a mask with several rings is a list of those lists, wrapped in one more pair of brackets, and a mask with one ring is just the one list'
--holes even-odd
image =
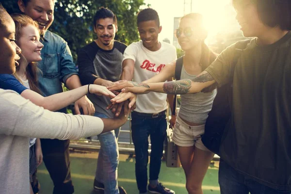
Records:
{"label": "bright glowing sky behind the woman in sunglasses", "polygon": [[[186,0],[186,14],[190,13],[190,2],[191,0]],[[172,43],[174,17],[184,15],[184,0],[145,0],[145,3],[151,4],[151,8],[160,16],[162,32],[159,39],[162,41],[168,38]],[[217,32],[239,30],[231,0],[192,0],[192,12],[204,16],[209,36],[214,36]]]}

